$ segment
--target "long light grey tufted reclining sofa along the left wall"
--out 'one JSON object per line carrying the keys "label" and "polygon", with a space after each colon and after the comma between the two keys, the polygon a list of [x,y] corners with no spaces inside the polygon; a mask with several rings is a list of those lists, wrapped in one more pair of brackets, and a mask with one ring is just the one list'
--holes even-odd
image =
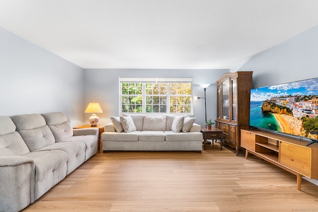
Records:
{"label": "long light grey tufted reclining sofa along the left wall", "polygon": [[0,212],[21,211],[97,152],[98,129],[61,112],[0,116]]}

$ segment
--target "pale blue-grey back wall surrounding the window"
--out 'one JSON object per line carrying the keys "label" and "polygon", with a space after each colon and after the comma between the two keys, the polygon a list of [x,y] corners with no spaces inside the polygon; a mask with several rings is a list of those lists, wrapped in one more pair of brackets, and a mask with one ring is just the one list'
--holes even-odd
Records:
{"label": "pale blue-grey back wall surrounding the window", "polygon": [[[140,70],[140,69],[84,69],[84,105],[95,101],[100,103],[103,113],[97,114],[101,123],[109,123],[109,116],[119,113],[119,77],[193,77],[193,94],[204,97],[201,83],[211,83],[206,90],[207,119],[216,119],[216,81],[228,69],[221,70]],[[85,115],[88,120],[90,114]],[[204,99],[194,102],[196,123],[204,126]]]}

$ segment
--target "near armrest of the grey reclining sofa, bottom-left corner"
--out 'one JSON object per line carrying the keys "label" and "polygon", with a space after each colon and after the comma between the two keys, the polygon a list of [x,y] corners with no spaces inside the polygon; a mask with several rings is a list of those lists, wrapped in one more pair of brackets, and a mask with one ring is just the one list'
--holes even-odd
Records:
{"label": "near armrest of the grey reclining sofa, bottom-left corner", "polygon": [[24,156],[0,156],[0,211],[21,211],[35,198],[35,166]]}

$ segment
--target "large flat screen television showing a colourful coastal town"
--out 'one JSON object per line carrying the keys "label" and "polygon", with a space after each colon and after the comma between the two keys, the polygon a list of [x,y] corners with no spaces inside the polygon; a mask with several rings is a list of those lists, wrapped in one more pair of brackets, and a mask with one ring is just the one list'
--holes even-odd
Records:
{"label": "large flat screen television showing a colourful coastal town", "polygon": [[249,125],[318,142],[318,78],[251,89]]}

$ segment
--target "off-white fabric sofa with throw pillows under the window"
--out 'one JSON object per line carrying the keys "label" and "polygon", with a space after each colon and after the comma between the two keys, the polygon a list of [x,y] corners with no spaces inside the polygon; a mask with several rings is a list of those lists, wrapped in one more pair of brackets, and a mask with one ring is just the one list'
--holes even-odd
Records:
{"label": "off-white fabric sofa with throw pillows under the window", "polygon": [[104,126],[101,135],[102,150],[201,152],[201,126],[195,124],[194,120],[174,115],[123,114],[111,117],[112,123]]}

